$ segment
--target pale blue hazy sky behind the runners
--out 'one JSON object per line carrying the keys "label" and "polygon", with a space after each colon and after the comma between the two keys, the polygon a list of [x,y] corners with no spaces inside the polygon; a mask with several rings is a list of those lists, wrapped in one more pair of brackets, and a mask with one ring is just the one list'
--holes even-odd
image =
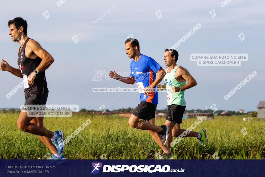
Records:
{"label": "pale blue hazy sky behind the runners", "polygon": [[[27,20],[28,36],[55,58],[46,71],[50,91],[47,104],[78,104],[88,109],[99,109],[104,104],[110,110],[136,107],[138,93],[93,93],[92,87],[136,87],[116,80],[92,81],[93,70],[130,71],[131,59],[124,48],[129,34],[139,40],[141,53],[165,68],[164,49],[173,46],[198,23],[201,28],[176,49],[177,64],[188,69],[197,81],[197,86],[185,91],[186,109],[205,109],[215,103],[217,109],[251,111],[257,109],[260,100],[265,100],[263,1],[231,1],[223,8],[222,1],[66,0],[59,7],[56,2],[14,1],[12,4],[17,5],[3,2],[0,7],[1,58],[17,67],[19,45],[8,36],[7,22],[18,16]],[[214,18],[208,13],[213,8]],[[46,10],[47,20],[42,15]],[[155,15],[158,10],[160,19]],[[241,32],[245,34],[242,42],[238,37]],[[76,44],[71,39],[74,35],[79,40]],[[239,67],[199,67],[189,59],[192,53],[247,53],[249,59]],[[223,97],[252,71],[257,75],[225,101]],[[22,88],[9,99],[5,95],[21,78],[3,71],[0,78],[0,108],[19,108],[25,101]],[[160,93],[157,108],[166,107],[166,93]]]}

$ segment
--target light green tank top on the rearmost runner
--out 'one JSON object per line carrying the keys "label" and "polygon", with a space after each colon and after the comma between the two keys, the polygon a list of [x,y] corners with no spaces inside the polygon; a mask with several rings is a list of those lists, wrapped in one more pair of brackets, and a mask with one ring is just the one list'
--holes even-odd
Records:
{"label": "light green tank top on the rearmost runner", "polygon": [[[175,78],[175,73],[178,67],[179,65],[177,65],[170,73],[167,73],[168,68],[166,70],[167,74],[164,77],[164,81],[165,81],[167,90],[169,89],[171,90],[171,87],[173,86],[181,87],[186,84],[186,81],[179,82]],[[185,90],[182,90],[180,92],[167,91],[167,105],[176,104],[180,106],[186,106],[186,101],[184,98],[184,91]]]}

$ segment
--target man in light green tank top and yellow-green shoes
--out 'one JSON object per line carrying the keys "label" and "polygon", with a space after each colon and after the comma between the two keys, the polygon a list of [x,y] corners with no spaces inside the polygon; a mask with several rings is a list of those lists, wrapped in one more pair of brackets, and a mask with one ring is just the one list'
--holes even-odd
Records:
{"label": "man in light green tank top and yellow-green shoes", "polygon": [[[176,64],[179,54],[175,49],[166,49],[164,53],[164,61],[167,68],[164,77],[167,88],[167,109],[168,115],[164,125],[169,126],[167,147],[170,149],[170,144],[173,137],[197,137],[202,146],[207,146],[206,130],[202,128],[200,131],[189,131],[180,128],[182,117],[186,108],[184,99],[184,90],[197,85],[197,82],[189,73],[189,71]],[[188,81],[186,83],[186,81]],[[170,158],[173,154],[164,153],[164,158]]]}

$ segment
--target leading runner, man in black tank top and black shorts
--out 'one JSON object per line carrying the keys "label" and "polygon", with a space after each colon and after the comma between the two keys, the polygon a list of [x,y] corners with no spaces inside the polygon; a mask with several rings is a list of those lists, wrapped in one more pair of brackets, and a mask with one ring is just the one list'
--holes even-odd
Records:
{"label": "leading runner, man in black tank top and black shorts", "polygon": [[[19,69],[11,67],[2,59],[0,70],[9,71],[23,78],[26,99],[24,105],[45,105],[48,98],[45,70],[54,62],[54,59],[38,42],[27,37],[27,21],[23,18],[17,17],[8,21],[8,27],[12,41],[20,44],[17,51]],[[17,126],[22,131],[38,135],[54,154],[53,159],[65,159],[62,155],[63,132],[47,130],[43,125],[43,117],[32,118],[27,116],[27,112],[20,112]]]}

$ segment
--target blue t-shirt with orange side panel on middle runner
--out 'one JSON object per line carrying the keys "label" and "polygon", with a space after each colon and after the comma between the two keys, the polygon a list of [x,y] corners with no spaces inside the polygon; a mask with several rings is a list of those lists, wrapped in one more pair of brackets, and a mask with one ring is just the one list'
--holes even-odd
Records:
{"label": "blue t-shirt with orange side panel on middle runner", "polygon": [[[153,58],[141,54],[141,58],[134,62],[131,62],[131,73],[130,76],[134,77],[138,88],[145,88],[150,86],[156,79],[156,72],[161,68],[161,66],[154,61]],[[154,88],[157,88],[155,86]],[[146,101],[153,104],[158,104],[158,92],[150,92],[148,95],[144,96],[144,91],[140,91],[140,102]]]}

